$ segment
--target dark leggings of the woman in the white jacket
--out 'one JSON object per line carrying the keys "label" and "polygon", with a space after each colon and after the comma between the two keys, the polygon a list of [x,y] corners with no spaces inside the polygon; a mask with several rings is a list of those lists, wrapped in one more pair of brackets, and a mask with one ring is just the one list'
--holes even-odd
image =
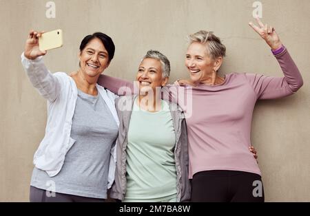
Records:
{"label": "dark leggings of the woman in the white jacket", "polygon": [[55,193],[50,196],[45,190],[30,186],[30,202],[105,202],[105,199],[80,197],[76,195]]}

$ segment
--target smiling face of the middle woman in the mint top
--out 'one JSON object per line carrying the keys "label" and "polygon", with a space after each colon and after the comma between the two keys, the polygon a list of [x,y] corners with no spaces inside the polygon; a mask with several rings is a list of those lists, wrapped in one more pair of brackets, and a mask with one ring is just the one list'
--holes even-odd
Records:
{"label": "smiling face of the middle woman in the mint top", "polygon": [[154,58],[145,58],[138,67],[136,80],[139,84],[140,91],[156,92],[156,87],[162,87],[167,84],[168,78],[163,78],[161,61]]}

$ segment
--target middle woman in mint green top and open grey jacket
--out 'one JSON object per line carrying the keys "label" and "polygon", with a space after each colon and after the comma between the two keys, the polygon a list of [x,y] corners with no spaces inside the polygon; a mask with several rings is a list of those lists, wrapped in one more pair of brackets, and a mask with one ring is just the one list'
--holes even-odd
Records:
{"label": "middle woman in mint green top and open grey jacket", "polygon": [[161,99],[170,65],[157,51],[138,67],[139,94],[116,100],[120,120],[110,197],[123,202],[189,201],[187,131],[183,111]]}

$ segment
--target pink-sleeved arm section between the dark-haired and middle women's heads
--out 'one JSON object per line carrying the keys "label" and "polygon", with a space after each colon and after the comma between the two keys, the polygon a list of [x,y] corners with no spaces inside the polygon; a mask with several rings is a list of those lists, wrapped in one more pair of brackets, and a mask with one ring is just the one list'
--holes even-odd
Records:
{"label": "pink-sleeved arm section between the dark-haired and middle women's heads", "polygon": [[136,92],[137,89],[134,88],[134,82],[122,80],[120,78],[101,74],[97,83],[109,89],[118,96],[124,96],[126,94],[138,94],[138,92]]}

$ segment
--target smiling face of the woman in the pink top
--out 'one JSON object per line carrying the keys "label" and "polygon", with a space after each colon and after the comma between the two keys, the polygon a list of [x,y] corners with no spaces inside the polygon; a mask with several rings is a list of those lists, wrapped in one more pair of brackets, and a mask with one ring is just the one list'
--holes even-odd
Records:
{"label": "smiling face of the woman in the pink top", "polygon": [[205,44],[194,42],[187,49],[185,66],[194,83],[200,83],[211,76],[214,71],[218,70],[221,63],[209,57]]}

